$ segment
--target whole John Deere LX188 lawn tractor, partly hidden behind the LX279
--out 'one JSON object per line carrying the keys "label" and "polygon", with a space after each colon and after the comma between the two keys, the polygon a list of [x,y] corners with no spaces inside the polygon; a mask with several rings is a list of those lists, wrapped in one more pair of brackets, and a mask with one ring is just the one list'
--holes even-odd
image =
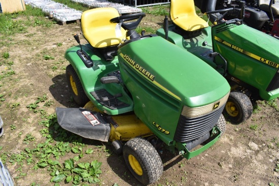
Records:
{"label": "whole John Deere LX188 lawn tractor, partly hidden behind the LX279", "polygon": [[[224,15],[232,9],[205,14]],[[249,98],[271,100],[279,96],[279,40],[241,24],[239,19],[210,27],[196,14],[193,0],[171,0],[170,20],[173,24],[168,26],[165,18],[164,29],[157,30],[157,35],[210,64],[227,79],[231,92],[224,113],[231,122],[251,117]]]}

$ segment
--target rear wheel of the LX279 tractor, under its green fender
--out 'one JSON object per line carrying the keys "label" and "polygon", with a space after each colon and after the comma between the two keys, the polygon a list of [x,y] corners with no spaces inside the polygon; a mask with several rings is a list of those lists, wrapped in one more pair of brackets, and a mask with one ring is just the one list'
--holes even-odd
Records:
{"label": "rear wheel of the LX279 tractor, under its green fender", "polygon": [[88,97],[86,96],[82,84],[80,82],[80,79],[74,69],[74,67],[69,64],[66,67],[66,79],[67,84],[69,87],[69,90],[71,92],[71,95],[73,96],[74,101],[80,105],[84,106],[88,101]]}

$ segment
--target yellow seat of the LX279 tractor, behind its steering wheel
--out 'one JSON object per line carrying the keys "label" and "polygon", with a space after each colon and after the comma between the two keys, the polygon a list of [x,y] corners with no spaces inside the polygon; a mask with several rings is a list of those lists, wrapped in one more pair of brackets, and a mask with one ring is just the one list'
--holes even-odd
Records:
{"label": "yellow seat of the LX279 tractor, behind its steering wheel", "polygon": [[118,45],[126,38],[126,31],[111,23],[112,18],[119,17],[115,8],[96,8],[83,12],[81,29],[84,38],[92,47],[104,48]]}

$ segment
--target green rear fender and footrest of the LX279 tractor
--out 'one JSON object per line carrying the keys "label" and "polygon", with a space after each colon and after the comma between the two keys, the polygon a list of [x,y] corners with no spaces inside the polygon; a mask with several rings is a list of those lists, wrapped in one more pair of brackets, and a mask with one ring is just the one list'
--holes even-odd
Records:
{"label": "green rear fender and footrest of the LX279 tractor", "polygon": [[[118,115],[127,113],[128,111],[133,110],[133,101],[124,91],[123,86],[120,84],[102,84],[100,82],[100,77],[106,77],[109,73],[119,70],[118,66],[118,57],[116,56],[112,61],[106,61],[98,56],[100,54],[98,51],[94,50],[90,45],[83,46],[84,51],[91,57],[93,60],[94,66],[87,68],[81,58],[77,55],[77,51],[80,50],[80,47],[69,48],[65,53],[65,58],[73,65],[75,68],[81,84],[83,86],[84,92],[87,97],[94,103],[97,109],[103,111],[109,115]],[[90,92],[105,89],[111,95],[122,93],[124,96],[118,98],[121,101],[127,103],[129,106],[119,108],[119,109],[110,109],[106,106],[100,104]]]}

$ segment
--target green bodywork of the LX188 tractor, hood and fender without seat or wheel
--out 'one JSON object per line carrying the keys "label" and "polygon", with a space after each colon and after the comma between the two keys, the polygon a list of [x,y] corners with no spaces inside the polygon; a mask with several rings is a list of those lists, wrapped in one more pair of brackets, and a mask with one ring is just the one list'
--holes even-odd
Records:
{"label": "green bodywork of the LX188 tractor, hood and fender without seat or wheel", "polygon": [[[175,26],[170,25],[168,41],[196,55],[228,81],[256,88],[264,100],[279,97],[279,40],[246,25],[230,23],[204,28],[200,35],[190,39],[174,30]],[[156,34],[165,38],[163,29]],[[213,52],[227,61],[226,72],[218,67],[225,62],[219,56],[210,56]]]}

